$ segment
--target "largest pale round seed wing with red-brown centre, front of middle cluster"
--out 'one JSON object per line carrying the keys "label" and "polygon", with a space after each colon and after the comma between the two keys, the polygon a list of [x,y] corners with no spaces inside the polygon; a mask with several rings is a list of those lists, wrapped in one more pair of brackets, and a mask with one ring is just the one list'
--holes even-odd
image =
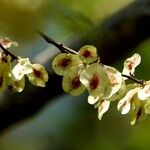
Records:
{"label": "largest pale round seed wing with red-brown centre, front of middle cluster", "polygon": [[110,82],[105,69],[99,63],[87,67],[81,73],[80,81],[89,91],[89,95],[94,97],[103,97],[105,88]]}

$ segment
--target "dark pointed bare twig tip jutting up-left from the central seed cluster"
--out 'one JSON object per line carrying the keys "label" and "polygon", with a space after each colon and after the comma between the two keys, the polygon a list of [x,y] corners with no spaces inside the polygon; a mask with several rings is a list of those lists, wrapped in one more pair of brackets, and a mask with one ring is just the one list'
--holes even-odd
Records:
{"label": "dark pointed bare twig tip jutting up-left from the central seed cluster", "polygon": [[48,37],[46,34],[44,34],[43,32],[37,30],[38,34],[43,37],[43,39],[47,42],[50,43],[52,45],[54,45],[55,47],[57,47],[62,53],[71,53],[71,54],[78,54],[75,50],[64,46],[61,43],[56,42],[55,40],[53,40],[52,38]]}

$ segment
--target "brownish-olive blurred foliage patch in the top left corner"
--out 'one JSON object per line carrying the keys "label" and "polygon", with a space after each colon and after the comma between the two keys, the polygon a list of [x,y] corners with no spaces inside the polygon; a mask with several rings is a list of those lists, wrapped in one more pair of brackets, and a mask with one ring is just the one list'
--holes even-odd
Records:
{"label": "brownish-olive blurred foliage patch in the top left corner", "polygon": [[32,37],[35,28],[44,21],[42,9],[45,0],[1,0],[0,1],[0,32],[17,36],[18,38]]}

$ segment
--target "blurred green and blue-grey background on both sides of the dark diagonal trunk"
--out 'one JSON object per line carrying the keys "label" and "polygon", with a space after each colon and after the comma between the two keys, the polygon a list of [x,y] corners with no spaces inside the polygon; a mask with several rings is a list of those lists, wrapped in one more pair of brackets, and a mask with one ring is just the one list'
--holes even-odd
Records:
{"label": "blurred green and blue-grey background on both sides of the dark diagonal trunk", "polygon": [[[12,50],[14,53],[34,58],[35,54],[50,48],[36,34],[36,28],[58,41],[71,42],[131,2],[133,0],[1,0],[0,32],[2,37],[19,43],[19,47]],[[135,50],[143,58],[137,69],[139,78],[149,79],[149,49],[150,39]],[[123,59],[112,65],[121,70]],[[121,116],[114,103],[99,121],[86,97],[86,93],[79,97],[57,97],[34,117],[2,133],[0,150],[150,149],[149,118],[130,126],[128,116]]]}

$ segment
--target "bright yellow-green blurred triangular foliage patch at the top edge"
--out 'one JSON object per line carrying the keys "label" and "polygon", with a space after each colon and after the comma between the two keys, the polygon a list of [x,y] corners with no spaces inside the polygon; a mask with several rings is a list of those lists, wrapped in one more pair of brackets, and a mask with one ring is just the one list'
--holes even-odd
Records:
{"label": "bright yellow-green blurred triangular foliage patch at the top edge", "polygon": [[92,22],[99,22],[99,20],[112,15],[112,13],[123,8],[133,0],[57,0],[64,6],[73,9],[87,17]]}

